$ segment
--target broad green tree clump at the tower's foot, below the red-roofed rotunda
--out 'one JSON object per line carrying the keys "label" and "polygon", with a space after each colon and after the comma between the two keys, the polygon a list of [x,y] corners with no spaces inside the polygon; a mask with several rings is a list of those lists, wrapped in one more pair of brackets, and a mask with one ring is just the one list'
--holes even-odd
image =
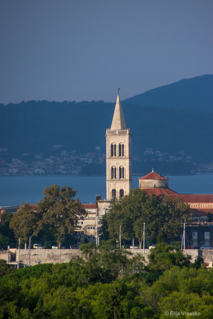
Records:
{"label": "broad green tree clump at the tower's foot, below the red-roofed rotunda", "polygon": [[122,237],[126,240],[137,238],[141,245],[143,223],[146,223],[146,235],[150,240],[159,233],[173,239],[182,230],[182,220],[191,214],[189,205],[181,199],[164,196],[148,196],[139,189],[130,189],[130,193],[121,201],[112,202],[112,208],[106,214],[111,238],[119,236],[122,224]]}

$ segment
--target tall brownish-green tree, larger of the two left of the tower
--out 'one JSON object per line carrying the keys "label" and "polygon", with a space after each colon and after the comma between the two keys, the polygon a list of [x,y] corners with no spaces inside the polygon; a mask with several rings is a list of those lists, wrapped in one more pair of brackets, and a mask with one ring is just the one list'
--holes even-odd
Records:
{"label": "tall brownish-green tree, larger of the two left of the tower", "polygon": [[45,187],[42,200],[37,204],[36,211],[42,216],[39,222],[40,231],[45,229],[54,235],[61,248],[61,243],[67,234],[72,234],[79,219],[86,216],[83,206],[78,198],[73,199],[76,191],[70,187],[58,185]]}

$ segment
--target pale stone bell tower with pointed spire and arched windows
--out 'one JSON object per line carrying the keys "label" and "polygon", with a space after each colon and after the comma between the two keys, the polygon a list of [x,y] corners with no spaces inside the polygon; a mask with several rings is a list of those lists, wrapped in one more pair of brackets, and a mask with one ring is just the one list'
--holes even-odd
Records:
{"label": "pale stone bell tower with pointed spire and arched windows", "polygon": [[111,128],[106,130],[107,200],[123,197],[132,188],[132,134],[126,128],[119,93]]}

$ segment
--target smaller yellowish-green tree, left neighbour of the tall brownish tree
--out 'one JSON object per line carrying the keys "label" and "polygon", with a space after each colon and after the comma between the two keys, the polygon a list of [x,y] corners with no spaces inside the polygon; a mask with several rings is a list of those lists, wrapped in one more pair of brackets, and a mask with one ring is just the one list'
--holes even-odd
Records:
{"label": "smaller yellowish-green tree, left neighbour of the tall brownish tree", "polygon": [[14,231],[15,238],[17,240],[21,238],[21,242],[25,243],[25,248],[29,237],[38,234],[41,218],[41,215],[32,209],[27,202],[19,207],[11,219],[10,228]]}

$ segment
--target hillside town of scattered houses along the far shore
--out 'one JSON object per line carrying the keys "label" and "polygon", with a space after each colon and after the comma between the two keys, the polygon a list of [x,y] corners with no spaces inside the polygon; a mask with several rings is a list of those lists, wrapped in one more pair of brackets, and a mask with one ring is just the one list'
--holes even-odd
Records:
{"label": "hillside town of scattered houses along the far shore", "polygon": [[[50,174],[84,174],[84,167],[95,163],[102,167],[106,165],[106,153],[100,146],[96,146],[94,152],[78,154],[76,150],[65,150],[63,145],[52,145],[52,153],[45,157],[42,153],[23,153],[10,157],[8,148],[0,148],[0,175],[50,175]],[[175,154],[155,151],[151,148],[144,150],[143,155],[133,155],[133,161],[141,167],[144,163],[191,163],[191,174],[213,173],[213,163],[197,163],[191,155],[184,150],[177,150]],[[133,167],[134,169],[134,167]],[[134,172],[133,174],[138,172]],[[140,172],[139,172],[140,173]],[[94,172],[95,174],[95,172]],[[104,173],[103,173],[104,174]]]}

